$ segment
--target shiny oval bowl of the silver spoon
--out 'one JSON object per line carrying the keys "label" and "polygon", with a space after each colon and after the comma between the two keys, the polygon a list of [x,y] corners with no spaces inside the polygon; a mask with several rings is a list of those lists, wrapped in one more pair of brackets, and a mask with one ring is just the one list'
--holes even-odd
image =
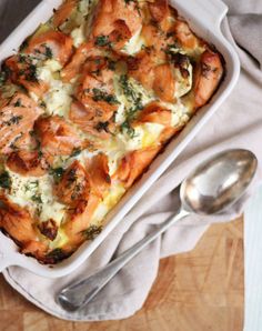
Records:
{"label": "shiny oval bowl of the silver spoon", "polygon": [[255,174],[258,160],[248,150],[226,150],[199,165],[181,184],[183,209],[220,213],[235,203]]}

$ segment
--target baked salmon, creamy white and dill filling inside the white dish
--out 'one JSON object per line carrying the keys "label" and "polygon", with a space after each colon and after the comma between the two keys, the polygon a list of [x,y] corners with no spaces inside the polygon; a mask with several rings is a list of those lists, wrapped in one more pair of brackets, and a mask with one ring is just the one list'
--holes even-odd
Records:
{"label": "baked salmon, creamy white and dill filling inside the white dish", "polygon": [[72,254],[223,73],[165,0],[66,0],[1,67],[2,231],[42,263]]}

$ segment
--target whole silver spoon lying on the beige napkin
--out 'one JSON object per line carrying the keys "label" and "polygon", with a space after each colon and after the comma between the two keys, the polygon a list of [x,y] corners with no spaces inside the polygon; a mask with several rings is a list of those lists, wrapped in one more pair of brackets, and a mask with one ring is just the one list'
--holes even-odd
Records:
{"label": "whole silver spoon lying on the beige napkin", "polygon": [[256,165],[255,156],[241,149],[221,152],[203,162],[182,182],[181,208],[174,215],[97,273],[64,288],[57,297],[58,303],[67,311],[83,308],[133,257],[175,222],[191,213],[208,215],[228,209],[244,193]]}

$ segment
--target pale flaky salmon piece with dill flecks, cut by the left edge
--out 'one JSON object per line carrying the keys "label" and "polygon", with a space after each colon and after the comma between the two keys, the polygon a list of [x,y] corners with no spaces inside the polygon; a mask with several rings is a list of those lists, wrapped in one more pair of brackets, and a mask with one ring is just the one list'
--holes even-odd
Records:
{"label": "pale flaky salmon piece with dill flecks, cut by the left edge", "polygon": [[23,148],[31,140],[30,132],[42,112],[29,97],[16,93],[0,109],[0,152],[7,154]]}

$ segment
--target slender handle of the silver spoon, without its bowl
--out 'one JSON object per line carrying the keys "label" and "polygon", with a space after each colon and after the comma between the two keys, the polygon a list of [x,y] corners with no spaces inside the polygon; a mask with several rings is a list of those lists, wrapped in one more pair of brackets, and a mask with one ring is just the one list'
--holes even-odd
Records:
{"label": "slender handle of the silver spoon, without its bowl", "polygon": [[163,222],[155,231],[137,242],[107,267],[102,268],[85,280],[64,288],[58,294],[58,303],[68,311],[75,311],[88,304],[98,294],[98,292],[100,292],[100,290],[143,248],[168,230],[173,223],[185,218],[188,214],[188,211],[181,209],[177,214]]}

